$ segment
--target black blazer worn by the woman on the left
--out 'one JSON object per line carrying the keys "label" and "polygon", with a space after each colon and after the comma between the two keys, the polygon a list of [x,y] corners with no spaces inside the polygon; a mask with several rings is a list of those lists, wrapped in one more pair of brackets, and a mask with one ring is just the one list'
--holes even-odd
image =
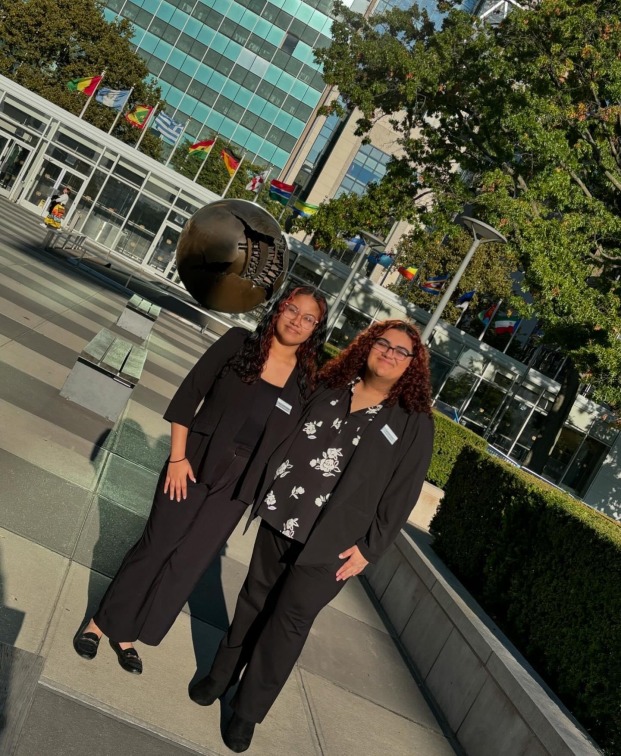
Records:
{"label": "black blazer worn by the woman on the left", "polygon": [[[250,413],[258,382],[244,383],[234,370],[220,375],[222,368],[242,347],[248,331],[231,328],[218,339],[185,377],[172,398],[164,418],[190,429],[186,445],[196,479],[213,485],[240,451],[235,442]],[[272,409],[261,443],[251,454],[245,476],[256,489],[261,471],[276,446],[295,429],[303,400],[294,368]],[[199,404],[202,405],[198,412]],[[288,411],[287,411],[288,410]],[[261,453],[257,452],[261,449]],[[244,450],[247,456],[247,450]]]}

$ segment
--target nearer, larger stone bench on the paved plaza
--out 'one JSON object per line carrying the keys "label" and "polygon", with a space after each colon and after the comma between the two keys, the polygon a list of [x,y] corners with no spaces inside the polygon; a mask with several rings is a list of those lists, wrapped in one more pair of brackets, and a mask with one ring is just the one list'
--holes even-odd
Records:
{"label": "nearer, larger stone bench on the paved plaza", "polygon": [[147,350],[107,328],[84,347],[60,395],[116,422],[140,380]]}

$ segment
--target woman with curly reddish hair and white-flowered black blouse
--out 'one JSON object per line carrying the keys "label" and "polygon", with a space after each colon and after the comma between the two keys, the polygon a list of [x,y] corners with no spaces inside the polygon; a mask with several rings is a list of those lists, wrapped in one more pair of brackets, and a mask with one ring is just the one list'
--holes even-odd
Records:
{"label": "woman with curly reddish hair and white-flowered black blouse", "polygon": [[[319,611],[396,538],[431,459],[429,357],[413,325],[372,325],[319,381],[296,431],[270,456],[233,622],[209,675],[190,689],[208,706],[245,667],[224,733],[236,753],[250,745]],[[248,483],[240,496],[250,501]]]}

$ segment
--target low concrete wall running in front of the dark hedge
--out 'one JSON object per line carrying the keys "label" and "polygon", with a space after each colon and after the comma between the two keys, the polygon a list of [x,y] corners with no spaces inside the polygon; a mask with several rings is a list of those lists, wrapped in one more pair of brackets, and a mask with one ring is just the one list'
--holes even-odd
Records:
{"label": "low concrete wall running in front of the dark hedge", "polygon": [[411,533],[402,531],[365,574],[466,754],[599,753],[431,550],[429,536]]}

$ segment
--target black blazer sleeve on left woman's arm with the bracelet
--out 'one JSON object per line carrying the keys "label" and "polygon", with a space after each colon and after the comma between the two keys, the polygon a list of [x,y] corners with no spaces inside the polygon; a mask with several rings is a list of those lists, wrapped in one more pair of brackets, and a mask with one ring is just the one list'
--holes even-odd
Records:
{"label": "black blazer sleeve on left woman's arm with the bracelet", "polygon": [[198,405],[228,360],[239,351],[248,333],[244,328],[231,328],[209,347],[177,389],[164,413],[165,420],[190,427]]}

